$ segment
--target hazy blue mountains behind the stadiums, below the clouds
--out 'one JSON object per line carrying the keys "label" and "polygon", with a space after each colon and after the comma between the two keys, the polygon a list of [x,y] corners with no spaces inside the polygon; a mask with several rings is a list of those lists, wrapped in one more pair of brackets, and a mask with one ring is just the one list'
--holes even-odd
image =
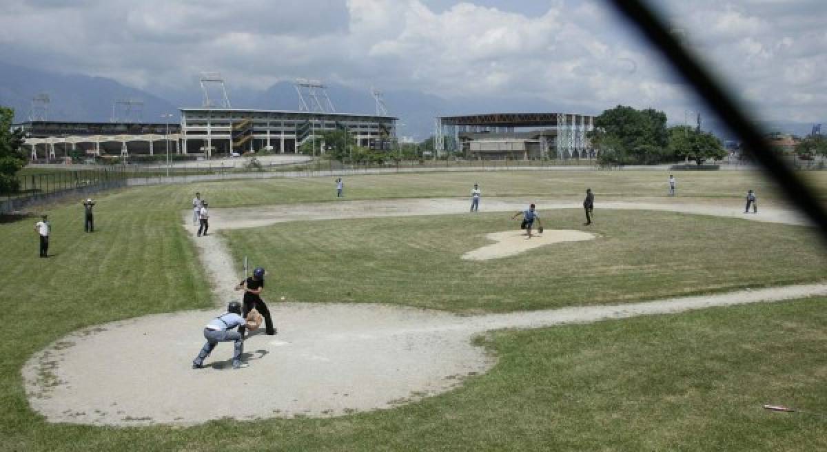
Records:
{"label": "hazy blue mountains behind the stadiums, below the clouds", "polygon": [[[299,96],[293,83],[275,83],[265,90],[236,87],[227,83],[227,96],[234,108],[299,110]],[[32,99],[40,93],[49,95],[47,119],[50,121],[110,121],[112,117],[128,117],[132,121],[163,122],[161,115],[172,113],[170,121],[178,121],[179,107],[199,107],[203,93],[198,83],[192,88],[166,90],[151,93],[149,90],[131,88],[113,79],[83,74],[62,74],[30,69],[0,61],[0,105],[12,107],[15,121],[27,121]],[[215,96],[213,90],[211,96]],[[328,83],[327,95],[336,112],[375,114],[376,102],[370,88],[347,87]],[[433,94],[415,91],[385,91],[384,102],[388,114],[398,117],[400,136],[424,140],[434,131],[434,118],[460,114],[491,112],[579,112],[600,114],[601,111],[582,111],[582,107],[564,100],[554,105],[541,98],[503,98],[480,96],[476,98],[440,98]],[[142,108],[127,111],[121,99],[140,100]],[[614,106],[606,106],[610,108]],[[657,108],[657,107],[656,107]],[[140,110],[140,111],[139,111]],[[140,113],[140,114],[139,114]],[[680,118],[674,122],[682,122]],[[795,122],[767,123],[767,130],[782,131],[804,136],[811,124]],[[706,114],[703,128],[715,132],[722,139],[731,135]]]}

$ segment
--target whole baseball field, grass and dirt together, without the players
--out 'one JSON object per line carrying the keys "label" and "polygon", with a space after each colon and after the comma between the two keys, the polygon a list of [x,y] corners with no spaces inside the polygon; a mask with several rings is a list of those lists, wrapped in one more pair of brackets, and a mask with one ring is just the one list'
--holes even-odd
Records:
{"label": "whole baseball field, grass and dirt together, without the players", "polygon": [[[36,216],[3,222],[0,449],[827,449],[822,242],[758,173],[681,172],[676,197],[667,176],[127,188],[94,233],[80,199],[32,212],[48,259]],[[511,220],[529,202],[531,246]],[[246,340],[246,369],[229,344],[190,369],[245,256],[279,332]]]}

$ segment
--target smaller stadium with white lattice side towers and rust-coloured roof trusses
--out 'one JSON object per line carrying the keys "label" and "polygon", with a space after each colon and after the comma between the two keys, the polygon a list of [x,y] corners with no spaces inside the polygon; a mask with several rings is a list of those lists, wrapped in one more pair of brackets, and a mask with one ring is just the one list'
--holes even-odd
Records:
{"label": "smaller stadium with white lattice side towers and rust-coloured roof trusses", "polygon": [[587,159],[595,117],[567,113],[490,113],[438,117],[437,154],[467,159]]}

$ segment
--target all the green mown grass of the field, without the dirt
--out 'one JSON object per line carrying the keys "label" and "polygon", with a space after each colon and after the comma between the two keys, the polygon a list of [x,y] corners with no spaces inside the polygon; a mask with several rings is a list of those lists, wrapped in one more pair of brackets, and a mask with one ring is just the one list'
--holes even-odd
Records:
{"label": "all the green mown grass of the field, without the dirt", "polygon": [[[825,193],[827,178],[807,177],[819,178]],[[779,199],[772,184],[753,173],[677,178],[679,197],[740,199],[753,188],[762,201]],[[601,200],[663,197],[665,180],[659,172],[626,171],[394,174],[347,177],[345,190],[347,199],[466,197],[476,182],[485,202],[493,196],[580,197],[590,186],[600,208]],[[491,332],[479,339],[500,358],[490,373],[466,380],[451,393],[380,412],[192,427],[45,422],[31,412],[23,392],[20,369],[31,354],[84,326],[217,302],[179,224],[195,191],[219,208],[335,197],[332,178],[122,189],[98,197],[94,234],[83,232],[80,199],[70,200],[37,212],[49,213],[54,225],[50,259],[36,256],[35,218],[0,224],[5,244],[0,308],[7,321],[0,344],[0,450],[827,448],[822,418],[761,409],[762,403],[777,403],[827,412],[823,298]],[[562,211],[552,221],[578,225],[580,214]],[[519,258],[530,274],[512,269],[500,278],[480,275],[505,271],[514,261],[458,259],[485,232],[514,227],[499,214],[480,213],[462,226],[465,234],[456,233],[454,216],[433,216],[294,222],[246,234],[232,231],[227,237],[237,255],[260,253],[280,275],[275,290],[291,297],[351,297],[457,312],[558,307],[566,300],[638,300],[823,278],[823,250],[803,227],[664,212],[599,215],[600,240],[530,251]],[[437,231],[428,234],[426,225]],[[294,257],[299,250],[305,262]],[[422,259],[430,264],[423,266]],[[343,261],[353,268],[337,270]],[[670,272],[670,263],[682,273]],[[428,272],[433,265],[438,272]],[[580,267],[591,271],[581,274]],[[366,274],[379,283],[355,283]],[[337,287],[342,283],[348,284]],[[350,295],[342,296],[342,288]]]}

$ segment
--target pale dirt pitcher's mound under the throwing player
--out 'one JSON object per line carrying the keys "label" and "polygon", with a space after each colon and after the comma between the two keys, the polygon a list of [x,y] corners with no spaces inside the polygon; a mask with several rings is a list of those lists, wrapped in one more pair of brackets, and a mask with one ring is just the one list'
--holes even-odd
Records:
{"label": "pale dirt pitcher's mound under the throwing player", "polygon": [[525,231],[491,232],[486,235],[485,238],[495,240],[497,243],[469,251],[462,255],[462,259],[497,259],[519,255],[523,251],[532,250],[543,245],[551,245],[552,243],[564,241],[591,240],[595,237],[596,235],[590,232],[568,230],[546,230],[543,231],[543,234],[538,234],[535,231],[530,239],[525,235]]}

